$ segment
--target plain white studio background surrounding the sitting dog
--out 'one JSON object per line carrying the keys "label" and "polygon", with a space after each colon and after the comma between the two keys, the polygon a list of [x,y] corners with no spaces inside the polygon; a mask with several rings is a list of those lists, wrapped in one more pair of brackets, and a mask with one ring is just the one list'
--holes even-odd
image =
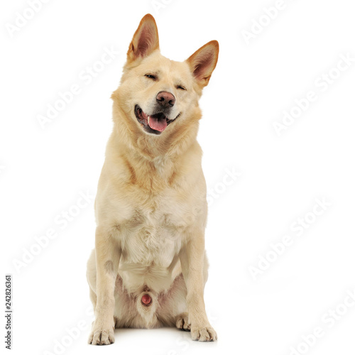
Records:
{"label": "plain white studio background surrounding the sitting dog", "polygon": [[[158,10],[150,0],[52,0],[12,36],[9,24],[28,3],[1,4],[1,272],[13,275],[13,354],[59,354],[58,342],[62,354],[288,355],[297,346],[299,354],[354,354],[355,307],[342,304],[355,288],[355,62],[333,70],[339,77],[327,89],[315,84],[340,55],[355,58],[354,4],[285,0],[275,18],[262,17],[266,26],[248,45],[242,31],[253,23],[257,30],[254,21],[276,1],[156,2]],[[117,329],[113,345],[88,345],[93,200],[66,228],[55,222],[75,209],[80,192],[96,193],[112,128],[110,95],[146,13],[155,16],[168,58],[185,60],[212,39],[220,45],[198,136],[215,196],[205,289],[214,344],[177,329]],[[80,79],[111,47],[116,58],[89,84]],[[38,115],[72,84],[82,91],[42,129]],[[278,136],[273,122],[309,91],[317,100]],[[241,173],[228,186],[226,169]],[[315,217],[317,198],[331,206]],[[297,236],[290,226],[305,215],[312,223]],[[48,229],[58,236],[16,269],[13,261]],[[255,280],[250,266],[286,235],[293,244]],[[333,327],[329,309],[345,313],[332,316]],[[78,323],[86,327],[72,339],[66,329]],[[322,337],[307,349],[302,337],[316,327]]]}

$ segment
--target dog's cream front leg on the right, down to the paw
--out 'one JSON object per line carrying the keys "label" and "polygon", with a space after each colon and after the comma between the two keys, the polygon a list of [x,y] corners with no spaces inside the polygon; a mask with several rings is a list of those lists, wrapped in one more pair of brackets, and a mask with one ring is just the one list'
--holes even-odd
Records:
{"label": "dog's cream front leg on the right, down to the paw", "polygon": [[182,275],[187,287],[187,311],[192,340],[211,342],[217,333],[209,324],[204,308],[204,232],[190,237],[180,252]]}

